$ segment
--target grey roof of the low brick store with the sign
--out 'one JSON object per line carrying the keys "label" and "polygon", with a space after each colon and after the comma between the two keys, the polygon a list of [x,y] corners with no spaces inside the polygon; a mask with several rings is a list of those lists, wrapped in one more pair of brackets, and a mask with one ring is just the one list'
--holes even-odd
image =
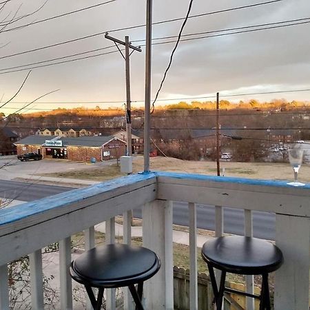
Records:
{"label": "grey roof of the low brick store with the sign", "polygon": [[[84,147],[101,147],[105,143],[109,142],[114,136],[79,136],[76,138],[69,138],[66,136],[39,136],[37,134],[33,136],[27,136],[19,140],[15,144],[19,145],[43,145],[46,140],[52,140],[57,138],[57,141],[63,141],[63,146],[84,146]],[[125,142],[125,141],[123,141]]]}

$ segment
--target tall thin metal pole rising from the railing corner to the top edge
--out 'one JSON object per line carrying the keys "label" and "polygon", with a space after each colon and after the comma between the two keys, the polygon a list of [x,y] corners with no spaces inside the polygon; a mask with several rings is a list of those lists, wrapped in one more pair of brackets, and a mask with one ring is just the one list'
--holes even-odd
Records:
{"label": "tall thin metal pole rising from the railing corner to the top edge", "polygon": [[145,50],[144,172],[149,172],[151,118],[152,0],[147,0]]}

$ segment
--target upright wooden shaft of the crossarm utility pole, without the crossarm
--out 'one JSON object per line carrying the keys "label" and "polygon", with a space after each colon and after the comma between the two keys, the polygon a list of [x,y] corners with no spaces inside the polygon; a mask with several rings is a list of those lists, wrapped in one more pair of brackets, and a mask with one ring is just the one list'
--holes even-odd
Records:
{"label": "upright wooden shaft of the crossarm utility pole, without the crossarm", "polygon": [[126,71],[126,134],[127,156],[132,156],[132,109],[130,107],[130,43],[129,37],[125,37],[125,71]]}

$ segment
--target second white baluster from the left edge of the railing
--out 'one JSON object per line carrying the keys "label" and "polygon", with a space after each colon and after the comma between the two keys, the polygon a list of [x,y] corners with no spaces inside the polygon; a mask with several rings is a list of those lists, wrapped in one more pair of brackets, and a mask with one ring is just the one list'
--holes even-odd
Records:
{"label": "second white baluster from the left edge of the railing", "polygon": [[44,297],[41,249],[29,254],[29,264],[32,309],[43,310]]}

